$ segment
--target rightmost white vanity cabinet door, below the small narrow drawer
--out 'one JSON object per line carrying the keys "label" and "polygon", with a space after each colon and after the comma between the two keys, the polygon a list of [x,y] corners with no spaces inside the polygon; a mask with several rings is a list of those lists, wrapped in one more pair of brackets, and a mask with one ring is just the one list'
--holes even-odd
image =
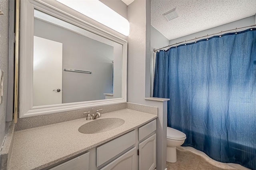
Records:
{"label": "rightmost white vanity cabinet door, below the small narrow drawer", "polygon": [[139,144],[139,170],[156,168],[156,134]]}

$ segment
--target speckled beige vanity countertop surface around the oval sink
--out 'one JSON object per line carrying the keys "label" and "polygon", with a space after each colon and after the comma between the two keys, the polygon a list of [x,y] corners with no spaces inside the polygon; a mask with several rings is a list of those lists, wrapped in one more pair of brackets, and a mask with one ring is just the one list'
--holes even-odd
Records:
{"label": "speckled beige vanity countertop surface around the oval sink", "polygon": [[78,128],[94,120],[72,120],[15,132],[9,170],[40,170],[90,148],[108,142],[150,122],[157,116],[123,109],[102,114],[101,118],[121,118],[125,123],[98,134],[82,134]]}

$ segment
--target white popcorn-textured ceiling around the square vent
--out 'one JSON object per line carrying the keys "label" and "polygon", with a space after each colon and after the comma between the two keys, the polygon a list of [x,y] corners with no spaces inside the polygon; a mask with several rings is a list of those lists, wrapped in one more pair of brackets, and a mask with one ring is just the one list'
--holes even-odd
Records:
{"label": "white popcorn-textured ceiling around the square vent", "polygon": [[[163,14],[174,8],[180,17],[167,22]],[[151,25],[169,40],[255,13],[256,0],[151,0]]]}

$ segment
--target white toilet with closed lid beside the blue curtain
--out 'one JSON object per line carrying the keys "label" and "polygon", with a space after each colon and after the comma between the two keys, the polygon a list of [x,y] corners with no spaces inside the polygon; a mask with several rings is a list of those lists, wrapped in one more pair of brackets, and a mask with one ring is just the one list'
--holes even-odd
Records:
{"label": "white toilet with closed lid beside the blue curtain", "polygon": [[166,161],[176,162],[176,146],[180,146],[184,143],[186,134],[176,130],[174,128],[167,127],[167,150],[166,150]]}

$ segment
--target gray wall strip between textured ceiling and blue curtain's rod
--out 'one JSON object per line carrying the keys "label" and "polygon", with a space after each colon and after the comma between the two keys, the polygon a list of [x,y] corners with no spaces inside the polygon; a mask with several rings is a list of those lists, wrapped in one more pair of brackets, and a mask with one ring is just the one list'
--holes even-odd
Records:
{"label": "gray wall strip between textured ceiling and blue curtain's rod", "polygon": [[[228,24],[224,24],[224,25],[221,25],[221,26],[210,28],[208,30],[204,30],[204,31],[196,32],[194,34],[190,34],[190,35],[187,35],[187,36],[176,38],[174,40],[170,40],[169,44],[175,44],[175,43],[178,43],[178,42],[182,42],[184,40],[190,40],[190,39],[193,39],[193,38],[196,38],[196,37],[205,36],[207,34],[214,34],[214,33],[217,33],[217,32],[231,30],[231,29],[239,28],[239,27],[243,27],[243,26],[250,26],[250,25],[253,25],[253,24],[255,24],[255,15],[247,17],[247,18],[243,18],[241,20],[237,20],[237,21],[234,21],[234,22],[230,22]],[[248,28],[246,28],[246,29],[248,29]],[[240,30],[238,30],[238,31],[240,31]]]}

